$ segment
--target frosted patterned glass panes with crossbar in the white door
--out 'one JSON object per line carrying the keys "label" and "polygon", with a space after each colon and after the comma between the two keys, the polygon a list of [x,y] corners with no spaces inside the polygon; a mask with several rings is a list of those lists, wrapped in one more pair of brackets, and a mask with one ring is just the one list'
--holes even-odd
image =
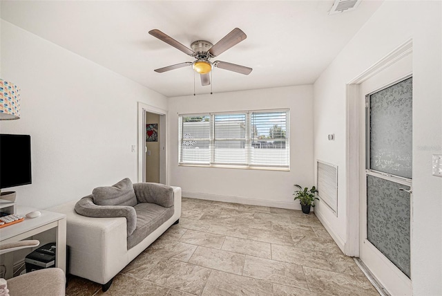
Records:
{"label": "frosted patterned glass panes with crossbar in the white door", "polygon": [[364,243],[410,278],[412,77],[370,93],[365,107]]}

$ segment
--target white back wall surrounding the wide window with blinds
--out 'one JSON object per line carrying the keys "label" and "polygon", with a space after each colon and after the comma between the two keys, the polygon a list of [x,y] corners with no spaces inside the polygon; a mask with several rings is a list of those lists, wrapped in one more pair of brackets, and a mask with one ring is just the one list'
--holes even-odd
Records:
{"label": "white back wall surrounding the wide window with blinds", "polygon": [[[170,184],[183,196],[300,209],[294,184],[313,185],[312,91],[307,85],[169,98]],[[178,165],[177,113],[282,108],[290,109],[290,172]]]}

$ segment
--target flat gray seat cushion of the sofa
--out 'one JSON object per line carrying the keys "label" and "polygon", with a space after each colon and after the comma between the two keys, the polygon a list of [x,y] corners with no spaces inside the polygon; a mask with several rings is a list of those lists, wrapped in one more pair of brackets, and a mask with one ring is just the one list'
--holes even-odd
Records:
{"label": "flat gray seat cushion of the sofa", "polygon": [[154,230],[173,216],[172,207],[162,207],[155,203],[139,203],[133,207],[137,212],[137,227],[133,234],[127,238],[127,248],[137,246]]}

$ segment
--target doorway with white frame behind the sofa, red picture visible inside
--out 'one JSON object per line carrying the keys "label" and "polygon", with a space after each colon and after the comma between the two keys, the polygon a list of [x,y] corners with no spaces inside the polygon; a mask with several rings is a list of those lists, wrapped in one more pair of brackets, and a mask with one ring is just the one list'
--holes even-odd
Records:
{"label": "doorway with white frame behind the sofa, red picture visible inside", "polygon": [[167,111],[138,103],[138,181],[167,185]]}

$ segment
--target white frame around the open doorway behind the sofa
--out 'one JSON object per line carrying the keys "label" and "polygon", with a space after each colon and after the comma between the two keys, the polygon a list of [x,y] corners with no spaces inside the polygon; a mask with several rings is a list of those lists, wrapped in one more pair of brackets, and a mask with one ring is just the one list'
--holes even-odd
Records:
{"label": "white frame around the open doorway behind the sofa", "polygon": [[146,112],[160,115],[160,129],[158,133],[158,140],[160,141],[160,183],[169,185],[168,167],[168,153],[167,153],[167,135],[168,131],[168,115],[167,111],[143,102],[138,102],[138,182],[144,182],[146,178]]}

